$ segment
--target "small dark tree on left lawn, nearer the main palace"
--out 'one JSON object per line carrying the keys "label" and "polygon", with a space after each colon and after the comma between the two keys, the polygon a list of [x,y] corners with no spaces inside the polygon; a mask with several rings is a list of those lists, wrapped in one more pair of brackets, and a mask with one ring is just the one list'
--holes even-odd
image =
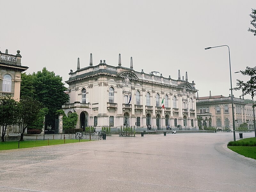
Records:
{"label": "small dark tree on left lawn, nearer the main palace", "polygon": [[23,141],[25,130],[33,125],[33,122],[37,119],[43,105],[31,97],[26,97],[20,99],[18,106],[20,110],[19,118],[21,126],[20,141]]}

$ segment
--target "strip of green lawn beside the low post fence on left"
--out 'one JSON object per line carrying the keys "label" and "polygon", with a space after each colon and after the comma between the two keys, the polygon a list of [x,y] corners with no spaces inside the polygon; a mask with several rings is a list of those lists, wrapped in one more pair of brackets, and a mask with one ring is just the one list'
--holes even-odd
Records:
{"label": "strip of green lawn beside the low post fence on left", "polygon": [[[80,142],[90,141],[89,139],[80,140]],[[77,143],[79,140],[76,139],[68,139],[65,140],[65,143]],[[49,145],[59,145],[64,144],[64,140],[49,140]],[[48,140],[33,140],[33,141],[20,141],[20,148],[31,148],[31,147],[40,147],[47,146]],[[8,150],[8,149],[18,149],[19,141],[7,141],[0,142],[0,150]]]}

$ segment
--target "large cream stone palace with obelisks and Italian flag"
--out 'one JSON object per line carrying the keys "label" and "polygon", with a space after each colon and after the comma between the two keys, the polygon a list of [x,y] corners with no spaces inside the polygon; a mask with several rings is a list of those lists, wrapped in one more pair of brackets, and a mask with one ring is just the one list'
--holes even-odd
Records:
{"label": "large cream stone palace with obelisks and Italian flag", "polygon": [[132,57],[130,68],[123,67],[120,54],[117,67],[105,60],[93,66],[91,53],[89,66],[80,68],[78,58],[76,71],[70,70],[66,81],[70,102],[62,108],[67,115],[78,114],[76,128],[111,126],[119,130],[126,124],[145,130],[150,124],[164,130],[169,124],[172,128],[198,129],[194,81],[188,82],[187,72],[186,79],[181,79],[180,70],[177,80],[156,73],[134,71]]}

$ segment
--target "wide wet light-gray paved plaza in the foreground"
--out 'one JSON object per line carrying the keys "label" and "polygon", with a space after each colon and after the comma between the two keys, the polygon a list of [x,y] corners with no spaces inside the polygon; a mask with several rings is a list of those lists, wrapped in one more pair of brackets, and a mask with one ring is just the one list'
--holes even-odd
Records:
{"label": "wide wet light-gray paved plaza in the foreground", "polygon": [[256,161],[229,150],[230,140],[233,133],[114,135],[0,151],[0,191],[256,191]]}

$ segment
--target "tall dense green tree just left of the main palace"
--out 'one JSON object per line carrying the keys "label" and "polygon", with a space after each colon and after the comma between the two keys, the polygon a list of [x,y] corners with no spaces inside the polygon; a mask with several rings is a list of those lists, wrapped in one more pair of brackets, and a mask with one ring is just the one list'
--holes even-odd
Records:
{"label": "tall dense green tree just left of the main palace", "polygon": [[[68,94],[65,93],[67,88],[62,83],[62,77],[48,71],[45,67],[42,71],[33,74],[21,76],[21,97],[33,95],[33,98],[43,103],[49,109],[45,116],[46,126],[55,127],[55,113],[61,106],[68,102]],[[32,87],[31,87],[32,85]],[[33,92],[27,92],[28,89],[34,89]]]}

